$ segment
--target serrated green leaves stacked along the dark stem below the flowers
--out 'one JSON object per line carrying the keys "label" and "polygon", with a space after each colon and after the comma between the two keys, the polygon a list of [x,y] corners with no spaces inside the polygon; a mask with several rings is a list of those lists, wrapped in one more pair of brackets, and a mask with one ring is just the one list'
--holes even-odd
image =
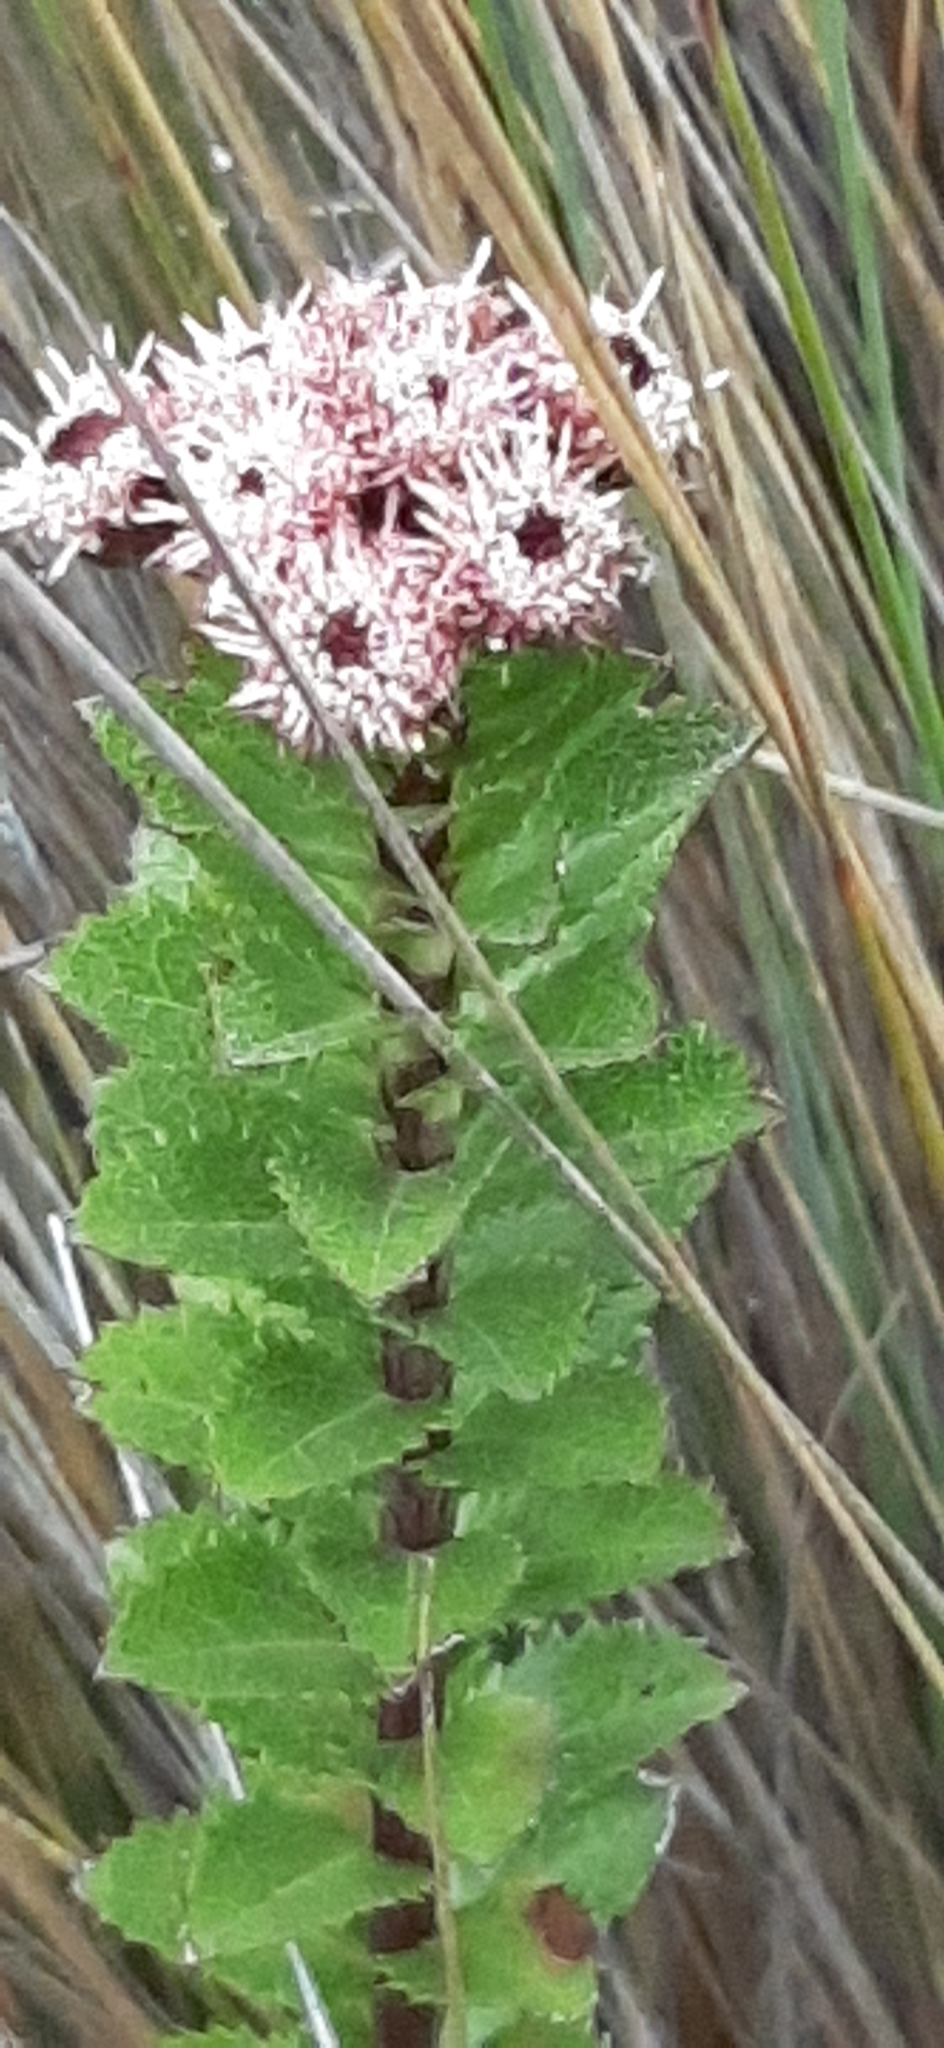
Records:
{"label": "serrated green leaves stacked along the dark stem below the flowers", "polygon": [[[731,758],[711,715],[649,709],[647,684],[616,655],[489,659],[463,739],[393,795],[682,1231],[758,1114],[735,1053],[659,1034],[641,965]],[[166,709],[539,1110],[340,764],[276,760],[227,686],[207,670]],[[131,889],[57,958],[66,997],[127,1049],[80,1231],[166,1268],[174,1303],[109,1327],[88,1372],[119,1442],[201,1481],[197,1507],[117,1546],[106,1667],[219,1722],[244,1796],[139,1827],[92,1898],[281,2042],[301,2038],[297,1944],[356,2048],[377,1999],[446,1999],[438,1835],[467,2038],[567,2048],[588,2036],[592,1927],[627,1911],[666,1831],[641,1765],[733,1696],[694,1642],[608,1606],[731,1542],[711,1491],[666,1464],[653,1292],[215,821],[117,727],[102,739],[143,823]]]}

